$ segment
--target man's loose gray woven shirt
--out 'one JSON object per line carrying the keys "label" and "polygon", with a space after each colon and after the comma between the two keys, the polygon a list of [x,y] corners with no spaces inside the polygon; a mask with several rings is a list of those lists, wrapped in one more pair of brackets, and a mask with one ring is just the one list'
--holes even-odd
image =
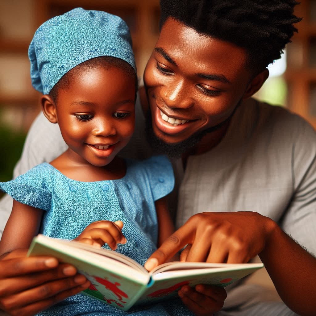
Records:
{"label": "man's loose gray woven shirt", "polygon": [[[120,155],[144,159],[153,153],[146,142],[139,101],[136,120],[131,142]],[[66,148],[58,125],[39,114],[14,176],[52,161]],[[172,161],[176,186],[170,208],[177,209],[176,226],[199,212],[256,211],[275,220],[302,246],[316,253],[315,157],[316,133],[305,120],[286,109],[249,99],[236,110],[225,137],[215,148],[190,156],[185,170],[181,160]],[[177,194],[178,199],[174,198]],[[8,196],[0,202],[1,232],[11,206]],[[216,315],[294,315],[281,302],[261,306],[258,301],[263,295],[258,286],[256,290],[252,285],[247,287],[249,284],[239,284],[237,292],[233,287],[224,305],[231,313]]]}

